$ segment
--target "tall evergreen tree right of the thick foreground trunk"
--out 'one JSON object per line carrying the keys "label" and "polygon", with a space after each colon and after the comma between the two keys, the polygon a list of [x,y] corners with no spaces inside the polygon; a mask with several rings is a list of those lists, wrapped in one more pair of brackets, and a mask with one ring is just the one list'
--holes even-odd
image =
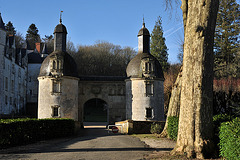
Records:
{"label": "tall evergreen tree right of the thick foreground trunk", "polygon": [[240,11],[236,0],[220,0],[214,38],[214,64],[217,78],[236,77],[239,57]]}

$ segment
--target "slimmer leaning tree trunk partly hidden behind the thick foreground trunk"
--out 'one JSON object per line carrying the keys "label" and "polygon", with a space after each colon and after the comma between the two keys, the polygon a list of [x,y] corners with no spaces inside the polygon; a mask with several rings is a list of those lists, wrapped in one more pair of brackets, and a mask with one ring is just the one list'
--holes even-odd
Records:
{"label": "slimmer leaning tree trunk partly hidden behind the thick foreground trunk", "polygon": [[169,135],[167,133],[167,127],[168,127],[168,117],[170,116],[179,116],[180,111],[180,96],[181,96],[181,87],[182,87],[182,69],[178,73],[177,79],[172,87],[171,92],[171,98],[168,106],[168,114],[167,114],[167,120],[164,126],[164,129],[162,133],[160,134],[160,137],[167,137],[169,138]]}

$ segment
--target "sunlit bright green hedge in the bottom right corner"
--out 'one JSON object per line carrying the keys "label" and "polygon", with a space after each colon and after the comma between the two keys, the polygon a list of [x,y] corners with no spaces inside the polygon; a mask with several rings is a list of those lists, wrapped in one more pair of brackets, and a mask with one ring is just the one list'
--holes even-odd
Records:
{"label": "sunlit bright green hedge in the bottom right corner", "polygon": [[219,138],[220,156],[231,160],[240,159],[240,118],[222,123]]}

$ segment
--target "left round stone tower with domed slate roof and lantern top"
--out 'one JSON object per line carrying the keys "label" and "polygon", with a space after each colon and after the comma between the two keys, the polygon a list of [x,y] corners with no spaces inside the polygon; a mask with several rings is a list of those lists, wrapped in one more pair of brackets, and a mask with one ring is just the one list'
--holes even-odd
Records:
{"label": "left round stone tower with domed slate roof and lantern top", "polygon": [[71,118],[78,121],[78,74],[66,52],[67,29],[60,23],[54,30],[54,51],[42,63],[39,81],[38,118]]}

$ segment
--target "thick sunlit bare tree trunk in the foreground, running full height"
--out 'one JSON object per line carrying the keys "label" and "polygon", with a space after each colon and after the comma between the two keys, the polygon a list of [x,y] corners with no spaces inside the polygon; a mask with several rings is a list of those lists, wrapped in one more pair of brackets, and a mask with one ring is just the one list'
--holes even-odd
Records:
{"label": "thick sunlit bare tree trunk in the foreground, running full height", "polygon": [[[214,153],[213,39],[219,0],[182,0],[187,5],[181,106],[177,144],[172,151],[206,158]],[[183,7],[182,7],[183,9]]]}

